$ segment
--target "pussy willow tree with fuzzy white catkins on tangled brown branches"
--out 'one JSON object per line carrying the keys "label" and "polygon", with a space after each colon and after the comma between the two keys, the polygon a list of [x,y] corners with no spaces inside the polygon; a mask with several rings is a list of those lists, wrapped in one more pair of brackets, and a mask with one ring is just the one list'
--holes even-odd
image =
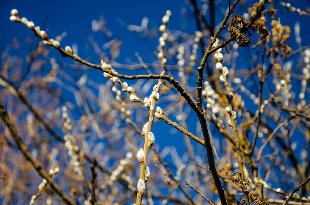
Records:
{"label": "pussy willow tree with fuzzy white catkins on tangled brown branches", "polygon": [[128,63],[103,17],[80,56],[13,9],[40,41],[2,54],[2,203],[310,204],[310,48],[280,19],[309,11],[239,1],[190,0],[190,32],[126,25],[158,39]]}

